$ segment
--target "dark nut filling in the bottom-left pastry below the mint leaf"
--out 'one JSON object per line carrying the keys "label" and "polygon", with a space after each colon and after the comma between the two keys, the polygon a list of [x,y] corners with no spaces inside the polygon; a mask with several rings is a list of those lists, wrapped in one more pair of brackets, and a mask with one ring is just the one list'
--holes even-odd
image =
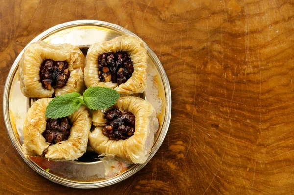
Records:
{"label": "dark nut filling in the bottom-left pastry below the mint leaf", "polygon": [[70,135],[71,124],[67,118],[49,119],[43,137],[46,142],[55,144],[67,140]]}

